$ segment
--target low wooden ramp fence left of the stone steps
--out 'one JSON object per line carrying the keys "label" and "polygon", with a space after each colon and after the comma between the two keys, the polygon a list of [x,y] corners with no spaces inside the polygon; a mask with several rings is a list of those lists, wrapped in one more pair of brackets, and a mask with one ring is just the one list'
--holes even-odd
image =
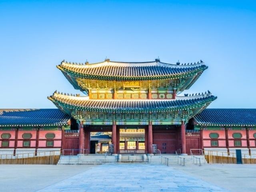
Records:
{"label": "low wooden ramp fence left of the stone steps", "polygon": [[18,154],[17,156],[0,155],[0,164],[46,164],[56,165],[60,151]]}

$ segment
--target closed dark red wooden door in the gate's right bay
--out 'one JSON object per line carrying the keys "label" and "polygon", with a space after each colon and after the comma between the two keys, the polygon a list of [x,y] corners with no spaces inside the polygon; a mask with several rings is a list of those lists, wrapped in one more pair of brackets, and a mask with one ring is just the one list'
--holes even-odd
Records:
{"label": "closed dark red wooden door in the gate's right bay", "polygon": [[153,144],[162,154],[173,154],[176,151],[176,132],[153,131]]}

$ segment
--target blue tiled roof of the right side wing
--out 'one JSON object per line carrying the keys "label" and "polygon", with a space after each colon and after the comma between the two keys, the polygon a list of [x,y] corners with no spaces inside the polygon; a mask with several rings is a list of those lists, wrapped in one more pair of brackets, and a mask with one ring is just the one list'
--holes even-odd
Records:
{"label": "blue tiled roof of the right side wing", "polygon": [[205,109],[194,119],[199,125],[256,125],[256,109]]}

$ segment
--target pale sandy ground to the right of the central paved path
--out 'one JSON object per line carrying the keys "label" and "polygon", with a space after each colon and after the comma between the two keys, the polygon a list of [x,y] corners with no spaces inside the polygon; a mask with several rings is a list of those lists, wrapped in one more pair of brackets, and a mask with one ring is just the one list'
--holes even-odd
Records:
{"label": "pale sandy ground to the right of the central paved path", "polygon": [[218,185],[232,192],[255,192],[256,164],[171,165],[190,176]]}

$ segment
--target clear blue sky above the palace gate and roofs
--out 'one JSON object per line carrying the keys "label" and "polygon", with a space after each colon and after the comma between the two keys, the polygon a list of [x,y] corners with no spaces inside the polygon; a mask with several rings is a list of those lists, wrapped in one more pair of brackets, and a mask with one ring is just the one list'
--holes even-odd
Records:
{"label": "clear blue sky above the palace gate and roofs", "polygon": [[0,0],[0,108],[55,108],[74,90],[56,65],[181,63],[208,69],[186,91],[209,108],[256,108],[256,3],[234,0]]}

